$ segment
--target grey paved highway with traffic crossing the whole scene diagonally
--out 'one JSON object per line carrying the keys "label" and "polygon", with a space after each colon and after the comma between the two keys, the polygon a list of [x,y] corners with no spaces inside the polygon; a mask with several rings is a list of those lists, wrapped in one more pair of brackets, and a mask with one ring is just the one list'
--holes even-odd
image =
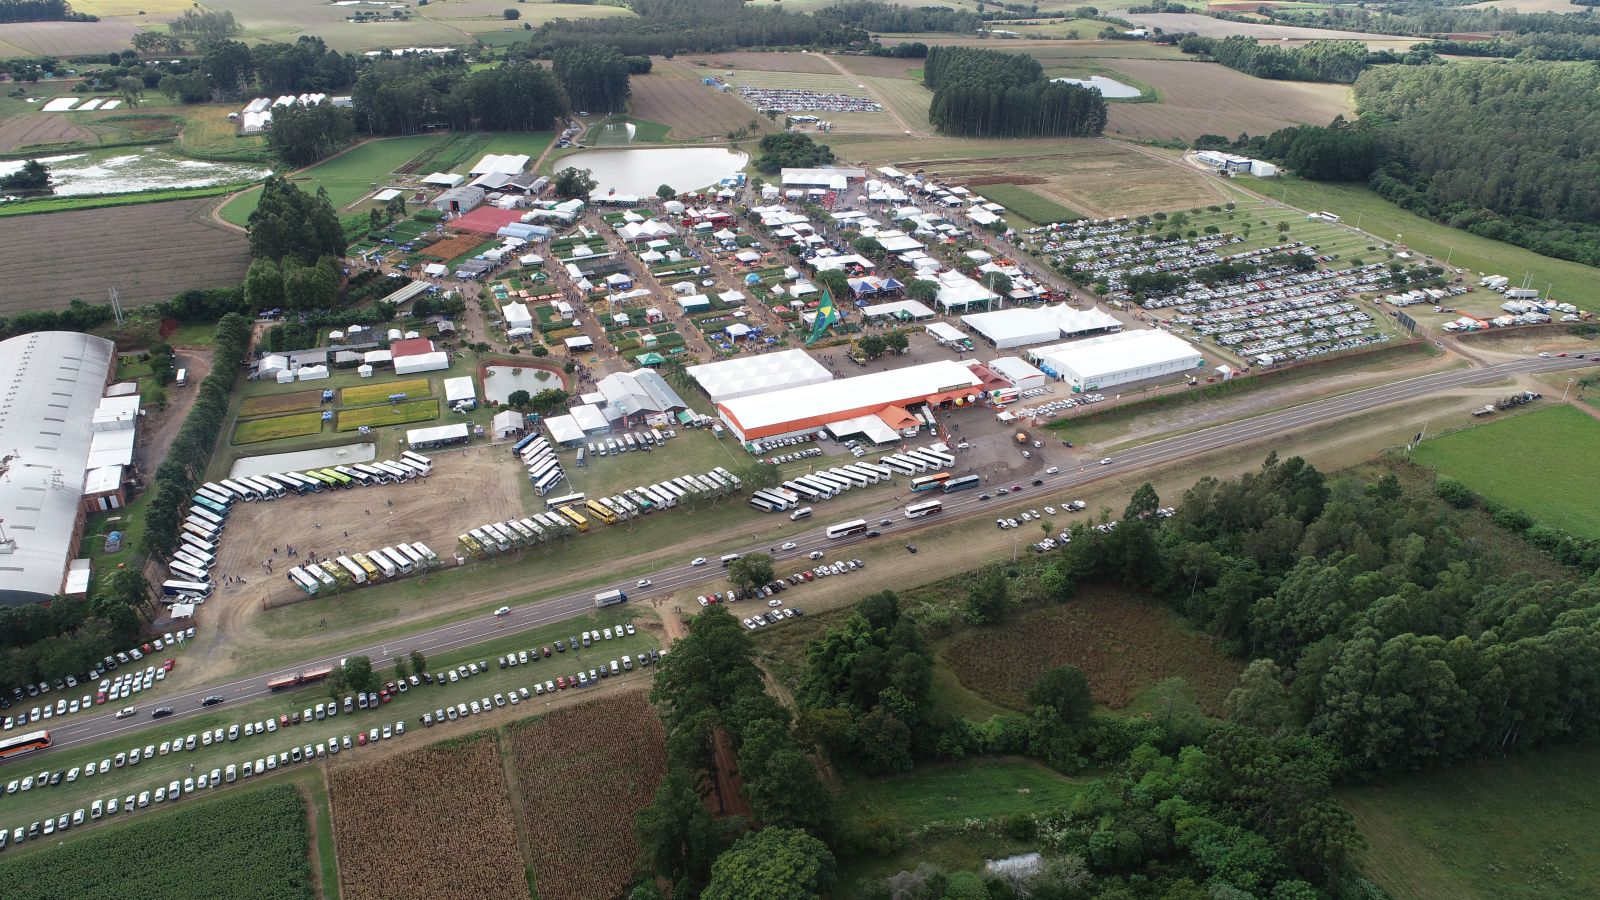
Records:
{"label": "grey paved highway with traffic crossing the whole scene diagonally", "polygon": [[[1435,375],[1424,375],[1419,378],[1395,381],[1392,384],[1382,384],[1378,388],[1368,388],[1350,394],[1341,394],[1338,397],[1330,397],[1326,400],[1314,400],[1310,404],[1290,407],[1286,410],[1266,413],[1227,424],[1211,426],[1203,431],[1195,431],[1192,434],[1182,434],[1176,437],[1168,437],[1165,440],[1155,440],[1152,444],[1146,444],[1142,447],[1117,453],[1110,460],[1110,463],[1104,466],[1088,464],[1075,469],[1064,469],[1054,476],[1042,476],[1045,485],[1029,487],[1027,484],[1024,484],[1021,496],[1024,500],[1038,496],[1035,503],[1040,506],[1045,503],[1059,503],[1061,500],[1064,500],[1059,493],[1062,488],[1075,488],[1102,477],[1120,476],[1125,472],[1133,472],[1138,469],[1146,469],[1163,463],[1187,460],[1211,450],[1246,444],[1250,440],[1258,440],[1261,437],[1282,434],[1314,423],[1336,420],[1339,416],[1358,413],[1362,410],[1370,410],[1389,404],[1402,404],[1406,400],[1414,400],[1418,397],[1426,397],[1429,394],[1451,391],[1456,388],[1467,388],[1474,384],[1485,384],[1490,381],[1498,381],[1515,375],[1560,372],[1560,370],[1582,368],[1590,365],[1600,365],[1600,360],[1576,359],[1576,357],[1550,357],[1550,359],[1528,357],[1482,368],[1440,372]],[[994,487],[986,487],[986,490],[992,492],[998,487],[1002,487],[1002,484],[995,484]],[[1016,501],[1016,496],[1006,496],[1005,500],[982,501],[978,500],[979,493],[981,492],[939,495],[939,498],[944,500],[944,512],[934,522],[952,517],[978,516],[982,514],[990,506],[1011,504]],[[1042,496],[1046,493],[1050,495],[1048,498]],[[810,567],[810,559],[806,559],[806,554],[813,549],[822,549],[822,548],[837,549],[861,541],[894,540],[899,533],[909,533],[914,530],[914,527],[930,524],[925,520],[915,520],[915,525],[910,525],[907,519],[904,519],[901,509],[902,504],[894,504],[880,512],[867,516],[867,519],[874,522],[878,519],[890,519],[890,522],[893,522],[891,525],[880,527],[883,530],[882,538],[856,536],[846,540],[829,540],[827,536],[824,536],[822,528],[806,532],[805,535],[792,538],[792,541],[797,544],[794,549],[773,552],[773,557],[778,562],[776,565],[778,573],[786,575],[789,572]],[[752,546],[742,549],[744,552],[760,552],[766,551],[768,548]],[[658,570],[654,573],[650,573],[648,578],[651,580],[651,586],[646,589],[635,589],[632,581],[622,585],[610,585],[610,586],[629,591],[634,596],[634,599],[659,593],[677,591],[680,588],[686,588],[696,583],[707,585],[707,589],[720,589],[722,585],[712,585],[714,581],[720,583],[723,580],[723,570],[715,564],[715,559],[723,552],[728,552],[728,549],[702,548],[698,552],[710,557],[714,562],[702,567],[693,567],[688,565],[688,562],[685,562],[682,565],[672,565]],[[835,556],[837,554],[832,552],[829,554],[829,557]],[[792,565],[786,565],[784,562],[787,560],[795,560],[795,562]],[[110,711],[110,705],[107,705],[101,708],[106,709],[104,714],[85,717],[82,721],[75,721],[70,724],[50,727],[50,733],[53,738],[51,751],[61,748],[80,746],[85,743],[93,743],[109,737],[130,733],[149,727],[150,724],[154,724],[149,717],[149,713],[157,706],[171,706],[174,709],[174,714],[170,719],[162,719],[162,722],[170,724],[184,716],[194,716],[200,713],[202,711],[200,701],[213,693],[226,697],[229,703],[266,697],[267,693],[270,693],[266,687],[267,677],[278,674],[293,674],[302,669],[323,665],[338,665],[342,657],[366,655],[371,657],[373,668],[381,668],[382,665],[390,663],[394,657],[410,653],[411,650],[422,650],[429,657],[437,657],[440,653],[456,650],[461,647],[470,647],[474,644],[482,644],[485,641],[530,631],[533,628],[539,628],[544,625],[550,625],[554,621],[573,618],[584,612],[590,612],[594,609],[595,591],[603,591],[606,588],[608,585],[600,585],[586,591],[563,594],[560,597],[552,597],[547,601],[541,601],[538,604],[517,607],[510,612],[509,617],[504,618],[493,618],[488,615],[475,617],[469,621],[446,625],[443,628],[434,628],[430,631],[422,631],[408,637],[381,642],[370,647],[350,649],[347,652],[330,657],[306,660],[291,668],[275,669],[270,673],[258,673],[227,684],[216,684],[210,687],[194,689],[173,697],[158,697],[158,698],[152,697],[150,700],[141,700],[138,716],[123,721],[117,721]],[[795,596],[795,601],[803,602],[803,597],[805,593],[802,591],[798,596]],[[755,604],[750,605],[752,609],[755,607]]]}

